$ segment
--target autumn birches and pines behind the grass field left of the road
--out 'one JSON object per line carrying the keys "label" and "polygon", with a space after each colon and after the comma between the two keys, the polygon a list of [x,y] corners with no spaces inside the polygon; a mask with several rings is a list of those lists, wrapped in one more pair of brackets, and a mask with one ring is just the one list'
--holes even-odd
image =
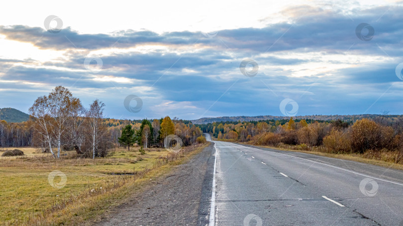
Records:
{"label": "autumn birches and pines behind the grass field left of the road", "polygon": [[[60,158],[62,150],[76,150],[82,157],[104,157],[113,145],[128,148],[168,147],[203,142],[201,129],[189,120],[111,119],[103,117],[105,105],[95,100],[85,108],[80,99],[63,86],[38,97],[29,108],[30,119],[21,123],[0,121],[0,147],[35,146]],[[169,140],[167,136],[175,139]],[[176,139],[176,137],[178,139]],[[165,141],[165,142],[164,142]]]}

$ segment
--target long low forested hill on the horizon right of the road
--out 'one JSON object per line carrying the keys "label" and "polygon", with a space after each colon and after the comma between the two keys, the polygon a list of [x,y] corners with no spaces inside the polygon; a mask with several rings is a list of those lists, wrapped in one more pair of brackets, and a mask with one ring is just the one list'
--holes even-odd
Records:
{"label": "long low forested hill on the horizon right of the road", "polygon": [[[294,119],[313,119],[313,120],[337,120],[343,121],[356,121],[360,118],[375,118],[381,116],[380,114],[353,114],[353,115],[298,115],[293,116]],[[386,115],[386,117],[403,117],[403,115]],[[281,120],[290,119],[290,116],[273,116],[273,115],[259,115],[259,116],[223,116],[223,117],[203,117],[192,120],[194,124],[207,124],[216,121],[259,121],[259,120]]]}

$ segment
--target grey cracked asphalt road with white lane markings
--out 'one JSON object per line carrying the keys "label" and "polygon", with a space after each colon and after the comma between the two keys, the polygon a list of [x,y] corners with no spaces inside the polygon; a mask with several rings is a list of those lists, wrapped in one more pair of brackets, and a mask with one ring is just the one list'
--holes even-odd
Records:
{"label": "grey cracked asphalt road with white lane markings", "polygon": [[199,225],[403,226],[401,170],[214,143]]}

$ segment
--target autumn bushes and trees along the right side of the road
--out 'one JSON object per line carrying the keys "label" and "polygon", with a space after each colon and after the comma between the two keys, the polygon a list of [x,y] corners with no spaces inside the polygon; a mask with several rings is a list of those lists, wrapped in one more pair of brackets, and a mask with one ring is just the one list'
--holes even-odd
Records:
{"label": "autumn bushes and trees along the right side of the road", "polygon": [[199,126],[216,140],[403,164],[403,118],[389,117],[387,113],[354,122],[291,117],[288,121],[214,122]]}

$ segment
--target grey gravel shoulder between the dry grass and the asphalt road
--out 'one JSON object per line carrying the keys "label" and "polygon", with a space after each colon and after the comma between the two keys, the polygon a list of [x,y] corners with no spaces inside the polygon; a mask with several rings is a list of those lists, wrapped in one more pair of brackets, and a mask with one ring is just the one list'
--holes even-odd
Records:
{"label": "grey gravel shoulder between the dry grass and the asphalt road", "polygon": [[156,180],[155,185],[134,195],[95,225],[204,225],[208,189],[203,189],[205,194],[202,194],[202,187],[208,187],[204,183],[208,185],[210,173],[206,173],[206,169],[213,159],[211,147],[209,145],[188,163],[177,166],[168,175]]}

